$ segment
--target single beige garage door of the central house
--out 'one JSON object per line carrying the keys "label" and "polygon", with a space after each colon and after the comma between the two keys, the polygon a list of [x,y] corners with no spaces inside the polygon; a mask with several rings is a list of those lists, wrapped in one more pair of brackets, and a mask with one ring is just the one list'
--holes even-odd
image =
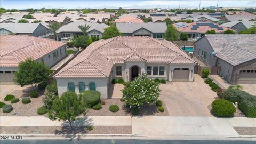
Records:
{"label": "single beige garage door of the central house", "polygon": [[176,82],[187,82],[189,78],[188,68],[175,68],[173,70],[172,81]]}

